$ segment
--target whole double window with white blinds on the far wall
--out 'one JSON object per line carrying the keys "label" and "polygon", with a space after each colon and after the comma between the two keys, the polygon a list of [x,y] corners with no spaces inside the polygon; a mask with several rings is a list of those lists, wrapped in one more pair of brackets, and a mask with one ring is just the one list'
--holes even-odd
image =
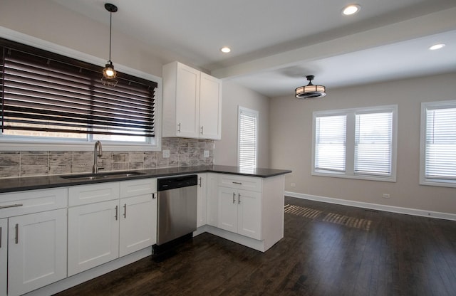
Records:
{"label": "whole double window with white blinds on the far wall", "polygon": [[314,112],[312,174],[395,181],[397,106]]}

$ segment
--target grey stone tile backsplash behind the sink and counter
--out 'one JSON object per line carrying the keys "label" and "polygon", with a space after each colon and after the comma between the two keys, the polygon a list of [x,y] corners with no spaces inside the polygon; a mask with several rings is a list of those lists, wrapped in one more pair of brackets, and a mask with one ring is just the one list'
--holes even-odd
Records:
{"label": "grey stone tile backsplash behind the sink and counter", "polygon": [[[123,171],[214,164],[212,140],[162,138],[162,150],[170,150],[170,157],[163,158],[162,151],[103,151],[98,166],[103,171]],[[204,157],[204,150],[209,150],[209,157]],[[90,173],[92,166],[93,151],[0,152],[0,178]]]}

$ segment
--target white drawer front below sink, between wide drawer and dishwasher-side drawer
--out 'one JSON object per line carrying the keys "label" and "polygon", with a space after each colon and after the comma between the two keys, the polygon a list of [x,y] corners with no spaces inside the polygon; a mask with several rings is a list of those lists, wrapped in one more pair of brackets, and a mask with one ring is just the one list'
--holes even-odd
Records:
{"label": "white drawer front below sink, between wide drawer and dishwasher-side drawer", "polygon": [[80,206],[113,199],[119,199],[119,182],[71,186],[68,189],[68,206]]}

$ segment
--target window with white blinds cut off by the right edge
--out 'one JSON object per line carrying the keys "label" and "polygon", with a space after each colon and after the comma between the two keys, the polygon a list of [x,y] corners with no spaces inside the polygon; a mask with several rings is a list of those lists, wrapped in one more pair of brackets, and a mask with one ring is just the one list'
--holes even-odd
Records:
{"label": "window with white blinds cut off by the right edge", "polygon": [[421,104],[420,184],[456,187],[456,101]]}

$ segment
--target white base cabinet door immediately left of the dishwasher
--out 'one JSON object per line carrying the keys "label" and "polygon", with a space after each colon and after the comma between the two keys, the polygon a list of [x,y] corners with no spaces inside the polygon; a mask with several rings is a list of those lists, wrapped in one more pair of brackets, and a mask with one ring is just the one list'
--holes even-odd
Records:
{"label": "white base cabinet door immediately left of the dishwasher", "polygon": [[157,242],[156,194],[120,199],[120,257]]}

